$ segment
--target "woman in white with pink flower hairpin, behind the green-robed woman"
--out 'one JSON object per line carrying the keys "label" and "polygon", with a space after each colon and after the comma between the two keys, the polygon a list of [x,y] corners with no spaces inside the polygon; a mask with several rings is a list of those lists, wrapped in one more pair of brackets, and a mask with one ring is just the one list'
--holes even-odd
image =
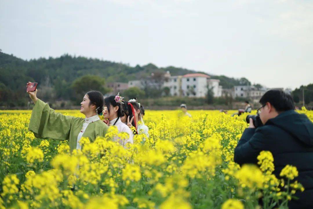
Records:
{"label": "woman in white with pink flower hairpin, behind the green-robed woman", "polygon": [[119,133],[125,132],[128,133],[129,138],[126,140],[122,140],[118,137],[114,138],[114,141],[118,141],[124,148],[126,148],[127,143],[133,144],[133,133],[131,129],[124,123],[121,122],[121,117],[123,116],[123,110],[121,108],[121,104],[123,97],[119,94],[116,96],[106,97],[104,99],[104,109],[103,109],[103,117],[107,119],[105,123],[109,126],[116,126]]}

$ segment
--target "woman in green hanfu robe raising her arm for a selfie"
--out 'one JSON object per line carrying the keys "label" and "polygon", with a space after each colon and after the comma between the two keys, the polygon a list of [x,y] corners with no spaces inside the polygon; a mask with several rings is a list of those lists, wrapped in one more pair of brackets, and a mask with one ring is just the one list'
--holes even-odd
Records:
{"label": "woman in green hanfu robe raising her arm for a selfie", "polygon": [[99,118],[104,105],[103,95],[99,91],[87,92],[80,103],[80,112],[86,118],[54,112],[47,103],[37,98],[37,89],[27,91],[27,93],[35,104],[28,128],[37,138],[69,140],[69,147],[72,151],[81,149],[79,141],[82,137],[88,137],[90,141],[94,141],[97,136],[104,136],[108,129],[108,126]]}

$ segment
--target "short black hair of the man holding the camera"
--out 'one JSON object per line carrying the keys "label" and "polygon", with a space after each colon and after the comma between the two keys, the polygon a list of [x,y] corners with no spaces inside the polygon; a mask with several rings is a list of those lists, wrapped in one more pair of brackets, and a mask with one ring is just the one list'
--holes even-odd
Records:
{"label": "short black hair of the man holding the camera", "polygon": [[259,101],[262,105],[269,102],[277,112],[283,112],[287,110],[294,110],[295,103],[290,94],[286,94],[281,90],[269,90],[267,91]]}

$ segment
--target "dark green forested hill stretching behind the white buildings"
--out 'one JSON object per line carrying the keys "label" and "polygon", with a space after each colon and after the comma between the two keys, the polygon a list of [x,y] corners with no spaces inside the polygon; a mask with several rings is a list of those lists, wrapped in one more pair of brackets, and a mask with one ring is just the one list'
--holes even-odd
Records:
{"label": "dark green forested hill stretching behind the white buildings", "polygon": [[[156,71],[170,71],[171,75],[196,72],[173,66],[158,68],[153,64],[131,67],[122,63],[67,54],[58,58],[25,61],[0,52],[0,106],[24,106],[28,101],[25,95],[26,81],[38,82],[41,89],[45,87],[47,92],[51,91],[51,97],[54,99],[69,99],[73,95],[73,81],[87,74],[102,77],[105,82],[127,82]],[[223,88],[240,84],[239,79],[226,76],[212,78],[219,79]]]}

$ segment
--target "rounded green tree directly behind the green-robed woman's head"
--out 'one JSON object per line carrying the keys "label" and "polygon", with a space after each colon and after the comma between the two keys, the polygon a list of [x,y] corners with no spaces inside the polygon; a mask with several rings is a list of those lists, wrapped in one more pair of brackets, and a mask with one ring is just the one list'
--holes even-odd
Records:
{"label": "rounded green tree directly behind the green-robed woman's head", "polygon": [[105,88],[105,79],[94,75],[85,75],[77,78],[72,83],[72,89],[75,92],[74,100],[80,101],[88,91],[100,91],[102,94],[108,92]]}

